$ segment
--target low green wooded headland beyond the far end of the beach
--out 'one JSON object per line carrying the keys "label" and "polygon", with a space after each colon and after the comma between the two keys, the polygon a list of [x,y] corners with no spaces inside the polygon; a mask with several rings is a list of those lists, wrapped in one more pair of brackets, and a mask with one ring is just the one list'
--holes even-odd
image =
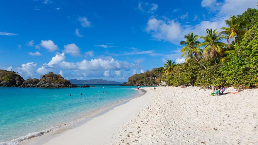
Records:
{"label": "low green wooded headland beyond the far end of the beach", "polygon": [[128,78],[128,82],[123,84],[125,86],[156,86],[161,82],[164,75],[163,67],[154,68],[151,71],[146,71],[140,74],[134,74]]}

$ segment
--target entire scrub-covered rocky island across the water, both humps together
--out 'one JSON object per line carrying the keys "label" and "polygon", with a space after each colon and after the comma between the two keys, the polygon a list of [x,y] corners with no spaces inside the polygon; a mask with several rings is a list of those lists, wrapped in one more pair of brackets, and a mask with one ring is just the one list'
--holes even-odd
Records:
{"label": "entire scrub-covered rocky island across the water, both humps together", "polygon": [[26,81],[14,71],[0,70],[0,86],[21,88],[75,88],[78,87],[64,79],[60,74],[50,72],[40,76],[40,79],[29,78]]}

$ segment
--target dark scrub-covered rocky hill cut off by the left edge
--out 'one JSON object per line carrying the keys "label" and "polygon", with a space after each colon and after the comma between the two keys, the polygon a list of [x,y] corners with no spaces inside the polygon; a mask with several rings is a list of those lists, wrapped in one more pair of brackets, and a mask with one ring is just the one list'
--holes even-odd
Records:
{"label": "dark scrub-covered rocky hill cut off by the left edge", "polygon": [[2,87],[17,87],[21,86],[24,82],[24,79],[15,73],[14,71],[6,71],[0,69],[0,86]]}

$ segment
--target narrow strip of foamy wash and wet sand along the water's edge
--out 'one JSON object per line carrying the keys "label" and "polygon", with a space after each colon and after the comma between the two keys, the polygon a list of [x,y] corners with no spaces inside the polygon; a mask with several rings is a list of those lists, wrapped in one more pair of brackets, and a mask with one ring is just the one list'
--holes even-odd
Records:
{"label": "narrow strip of foamy wash and wet sand along the water's edge", "polygon": [[[136,88],[132,88],[132,89],[137,90]],[[38,132],[31,132],[31,133],[28,133],[27,135],[12,139],[10,141],[0,142],[0,145],[26,144],[27,142],[30,142],[31,140],[46,136],[47,134],[51,134],[53,132],[59,132],[60,130],[64,130],[64,129],[65,130],[69,129],[70,126],[74,127],[74,125],[79,124],[79,122],[83,122],[85,120],[89,120],[91,118],[97,117],[97,116],[105,113],[106,111],[108,111],[118,105],[122,105],[123,103],[126,103],[134,98],[138,98],[138,97],[144,95],[145,93],[146,92],[142,90],[141,92],[137,92],[137,93],[135,93],[135,95],[130,96],[130,98],[118,100],[116,102],[105,105],[103,107],[87,110],[86,112],[81,112],[77,115],[78,117],[75,117],[75,120],[65,122],[60,125],[50,127],[50,128],[44,129],[44,130],[40,130]]]}

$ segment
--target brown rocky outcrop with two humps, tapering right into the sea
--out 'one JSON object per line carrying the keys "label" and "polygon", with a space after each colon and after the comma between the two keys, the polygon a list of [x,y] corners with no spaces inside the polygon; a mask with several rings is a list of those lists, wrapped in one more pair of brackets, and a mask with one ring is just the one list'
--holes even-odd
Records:
{"label": "brown rocky outcrop with two humps, tapering right into the sea", "polygon": [[40,80],[27,79],[21,85],[21,87],[37,87],[37,88],[75,88],[78,87],[70,81],[64,79],[61,75],[54,74],[52,72],[41,76]]}

